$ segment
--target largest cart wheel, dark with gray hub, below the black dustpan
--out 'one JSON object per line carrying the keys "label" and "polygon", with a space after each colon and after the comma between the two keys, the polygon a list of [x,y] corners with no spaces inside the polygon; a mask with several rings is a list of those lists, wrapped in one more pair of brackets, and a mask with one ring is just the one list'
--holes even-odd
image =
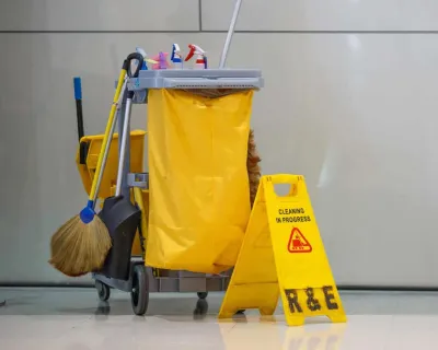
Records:
{"label": "largest cart wheel, dark with gray hub, below the black dustpan", "polygon": [[130,293],[132,311],[137,316],[146,314],[149,304],[149,279],[146,266],[137,265],[132,271],[132,291]]}

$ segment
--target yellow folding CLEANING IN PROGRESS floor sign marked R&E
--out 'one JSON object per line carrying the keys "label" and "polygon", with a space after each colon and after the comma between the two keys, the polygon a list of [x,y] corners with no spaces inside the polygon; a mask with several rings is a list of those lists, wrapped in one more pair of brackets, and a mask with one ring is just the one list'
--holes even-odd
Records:
{"label": "yellow folding CLEANING IN PROGRESS floor sign marked R&E", "polygon": [[[289,184],[289,194],[279,197],[276,184]],[[247,308],[273,315],[279,294],[290,326],[347,319],[300,175],[262,177],[219,318]]]}

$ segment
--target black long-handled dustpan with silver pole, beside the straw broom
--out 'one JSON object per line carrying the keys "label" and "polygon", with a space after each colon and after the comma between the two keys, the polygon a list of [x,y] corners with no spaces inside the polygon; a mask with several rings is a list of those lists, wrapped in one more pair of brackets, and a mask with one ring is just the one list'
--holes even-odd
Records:
{"label": "black long-handled dustpan with silver pole, beside the straw broom", "polygon": [[[131,54],[127,60],[138,60],[137,70],[129,78],[138,77],[142,66],[143,57],[140,54]],[[116,196],[105,199],[99,217],[108,229],[113,246],[106,256],[105,264],[100,271],[102,275],[119,280],[129,279],[130,256],[137,228],[140,224],[141,211],[135,207],[130,198],[122,196],[122,180],[126,177],[129,170],[124,168],[127,138],[129,137],[130,107],[132,104],[134,92],[127,92],[125,120],[123,125],[122,142],[118,160],[118,173]]]}

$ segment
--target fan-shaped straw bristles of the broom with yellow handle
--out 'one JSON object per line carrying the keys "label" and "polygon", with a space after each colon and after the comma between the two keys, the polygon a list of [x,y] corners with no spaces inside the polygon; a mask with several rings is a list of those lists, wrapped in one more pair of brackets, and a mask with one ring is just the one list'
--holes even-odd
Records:
{"label": "fan-shaped straw bristles of the broom with yellow handle", "polygon": [[108,230],[101,218],[95,215],[85,224],[76,215],[53,235],[49,262],[67,276],[79,277],[100,270],[111,245]]}

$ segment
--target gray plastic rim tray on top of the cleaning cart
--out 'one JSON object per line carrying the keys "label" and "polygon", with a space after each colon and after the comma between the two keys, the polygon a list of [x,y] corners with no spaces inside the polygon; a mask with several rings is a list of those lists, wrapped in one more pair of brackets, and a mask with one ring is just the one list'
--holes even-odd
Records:
{"label": "gray plastic rim tray on top of the cleaning cart", "polygon": [[262,71],[255,69],[142,70],[130,79],[128,89],[255,89],[263,88]]}

